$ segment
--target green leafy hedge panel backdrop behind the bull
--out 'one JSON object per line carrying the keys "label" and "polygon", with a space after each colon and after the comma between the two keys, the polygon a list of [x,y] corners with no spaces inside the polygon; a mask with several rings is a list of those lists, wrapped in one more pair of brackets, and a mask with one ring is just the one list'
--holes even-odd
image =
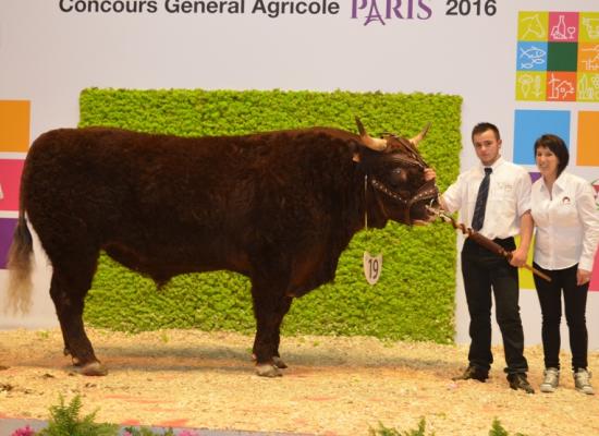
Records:
{"label": "green leafy hedge panel backdrop behind the bull", "polygon": [[[462,98],[449,95],[282,90],[84,89],[80,126],[111,125],[182,136],[235,135],[326,125],[356,131],[358,116],[371,135],[412,137],[432,126],[420,149],[444,190],[460,169]],[[383,253],[379,282],[369,286],[362,257]],[[390,222],[362,231],[343,253],[333,283],[296,299],[282,332],[367,335],[452,342],[455,232],[433,223]],[[102,255],[85,319],[125,331],[197,328],[254,332],[249,281],[229,271],[154,282]]]}

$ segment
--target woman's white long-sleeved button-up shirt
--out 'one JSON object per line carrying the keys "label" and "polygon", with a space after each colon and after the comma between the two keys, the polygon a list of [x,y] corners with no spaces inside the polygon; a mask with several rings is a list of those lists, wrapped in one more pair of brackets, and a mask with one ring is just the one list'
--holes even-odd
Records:
{"label": "woman's white long-sleeved button-up shirt", "polygon": [[592,270],[599,213],[590,183],[564,171],[550,192],[541,177],[533,184],[530,207],[536,226],[535,262],[545,269],[578,264],[579,269]]}

